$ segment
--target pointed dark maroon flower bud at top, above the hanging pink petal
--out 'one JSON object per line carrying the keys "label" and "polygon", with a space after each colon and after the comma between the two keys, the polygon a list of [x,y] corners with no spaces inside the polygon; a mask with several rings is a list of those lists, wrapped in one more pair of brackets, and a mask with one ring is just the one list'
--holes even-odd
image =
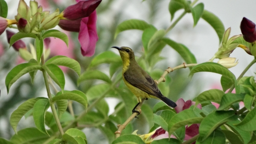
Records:
{"label": "pointed dark maroon flower bud at top, above the hanging pink petal", "polygon": [[68,20],[77,20],[88,17],[101,3],[102,0],[82,0],[78,3],[68,6],[63,11],[63,17]]}

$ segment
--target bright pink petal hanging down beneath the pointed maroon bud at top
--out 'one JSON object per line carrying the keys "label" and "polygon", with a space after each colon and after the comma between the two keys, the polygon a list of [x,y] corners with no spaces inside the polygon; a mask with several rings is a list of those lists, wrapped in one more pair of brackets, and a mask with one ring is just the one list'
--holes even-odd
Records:
{"label": "bright pink petal hanging down beneath the pointed maroon bud at top", "polygon": [[89,17],[81,20],[78,40],[81,45],[83,56],[92,56],[95,52],[96,43],[99,39],[96,29],[97,14],[94,11]]}

